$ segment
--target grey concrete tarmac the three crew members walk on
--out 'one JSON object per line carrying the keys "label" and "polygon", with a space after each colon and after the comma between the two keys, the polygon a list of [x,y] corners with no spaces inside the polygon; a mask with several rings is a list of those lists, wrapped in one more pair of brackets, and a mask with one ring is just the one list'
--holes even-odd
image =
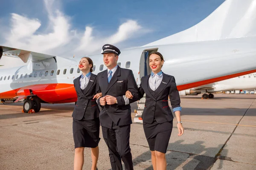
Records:
{"label": "grey concrete tarmac the three crew members walk on", "polygon": [[[177,136],[175,118],[167,170],[256,170],[256,94],[181,96],[181,106],[185,130]],[[0,170],[72,170],[73,108],[42,104],[39,113],[22,113],[22,103],[0,104]],[[102,130],[100,137],[97,167],[111,170]],[[142,124],[131,125],[130,147],[134,170],[153,170]],[[90,170],[90,148],[84,156]]]}

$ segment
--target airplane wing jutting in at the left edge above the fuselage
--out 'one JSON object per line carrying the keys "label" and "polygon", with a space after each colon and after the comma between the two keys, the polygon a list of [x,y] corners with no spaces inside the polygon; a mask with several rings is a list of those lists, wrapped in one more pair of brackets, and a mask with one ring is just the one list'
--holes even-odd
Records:
{"label": "airplane wing jutting in at the left edge above the fuselage", "polygon": [[35,53],[32,51],[0,46],[0,59],[2,56],[20,58],[22,59],[23,62],[27,62],[28,59],[32,59],[33,61],[38,61],[38,60],[44,60],[44,59],[56,57],[56,56],[47,55],[47,54]]}

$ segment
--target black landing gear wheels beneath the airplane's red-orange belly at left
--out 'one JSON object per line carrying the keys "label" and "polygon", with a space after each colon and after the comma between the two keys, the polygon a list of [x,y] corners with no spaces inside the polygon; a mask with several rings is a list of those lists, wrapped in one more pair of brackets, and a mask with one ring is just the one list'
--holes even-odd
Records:
{"label": "black landing gear wheels beneath the airplane's red-orange belly at left", "polygon": [[41,102],[38,97],[27,98],[23,103],[23,111],[29,113],[31,109],[34,109],[35,112],[39,112],[41,109]]}

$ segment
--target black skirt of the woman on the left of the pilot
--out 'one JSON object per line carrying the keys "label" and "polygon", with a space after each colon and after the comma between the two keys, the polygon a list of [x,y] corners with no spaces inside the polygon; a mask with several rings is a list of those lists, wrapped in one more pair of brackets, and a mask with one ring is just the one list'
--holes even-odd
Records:
{"label": "black skirt of the woman on the left of the pilot", "polygon": [[75,148],[97,147],[99,144],[99,118],[93,120],[73,119],[73,138]]}

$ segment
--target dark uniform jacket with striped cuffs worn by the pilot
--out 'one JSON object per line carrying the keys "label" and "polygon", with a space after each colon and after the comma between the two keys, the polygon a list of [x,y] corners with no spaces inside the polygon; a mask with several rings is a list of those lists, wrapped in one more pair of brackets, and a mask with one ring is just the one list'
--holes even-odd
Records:
{"label": "dark uniform jacket with striped cuffs worn by the pilot", "polygon": [[[130,104],[139,100],[138,87],[132,71],[118,66],[109,83],[108,70],[100,72],[97,78],[102,96],[111,95],[117,99],[117,104],[101,106],[102,111],[99,113],[101,125],[108,128],[111,128],[112,122],[118,126],[130,125],[132,123]],[[126,91],[130,91],[134,96],[133,99],[128,99],[128,105],[125,105],[127,100],[125,101],[123,97]]]}

